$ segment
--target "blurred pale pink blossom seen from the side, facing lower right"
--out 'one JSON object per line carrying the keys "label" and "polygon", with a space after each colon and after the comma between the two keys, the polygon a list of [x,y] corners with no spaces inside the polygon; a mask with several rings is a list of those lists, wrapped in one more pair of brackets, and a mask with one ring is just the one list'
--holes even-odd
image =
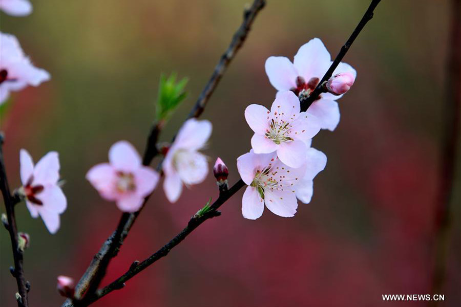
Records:
{"label": "blurred pale pink blossom seen from the side, facing lower right", "polygon": [[186,186],[201,183],[208,173],[206,156],[198,152],[205,146],[212,133],[212,124],[207,120],[188,119],[166,153],[163,161],[166,198],[175,203]]}

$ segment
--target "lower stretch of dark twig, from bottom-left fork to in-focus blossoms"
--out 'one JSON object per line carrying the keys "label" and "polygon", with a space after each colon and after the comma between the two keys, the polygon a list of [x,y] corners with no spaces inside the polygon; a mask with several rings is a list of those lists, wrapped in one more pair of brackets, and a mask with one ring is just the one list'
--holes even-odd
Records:
{"label": "lower stretch of dark twig, from bottom-left fork to in-focus blossoms", "polygon": [[221,192],[219,198],[211,205],[209,211],[204,213],[203,215],[194,215],[191,220],[187,223],[187,226],[177,234],[173,239],[170,240],[169,243],[165,244],[162,248],[160,248],[157,252],[152,254],[149,258],[138,262],[130,267],[130,269],[111,282],[108,286],[104,287],[102,290],[98,291],[95,296],[90,298],[90,303],[95,302],[96,300],[100,299],[101,297],[111,293],[114,290],[118,290],[123,288],[124,282],[131,279],[147,267],[151,266],[157,260],[165,257],[175,246],[184,240],[187,235],[189,235],[192,231],[194,231],[197,227],[199,227],[203,222],[213,218],[215,216],[219,216],[221,213],[218,210],[222,204],[224,204],[232,195],[234,195],[238,190],[245,186],[245,183],[242,180],[237,181],[229,190],[225,192]]}

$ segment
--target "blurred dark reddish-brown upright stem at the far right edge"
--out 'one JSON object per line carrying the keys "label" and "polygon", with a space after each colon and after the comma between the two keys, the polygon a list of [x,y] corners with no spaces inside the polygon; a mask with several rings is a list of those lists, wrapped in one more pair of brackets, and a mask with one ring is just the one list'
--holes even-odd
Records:
{"label": "blurred dark reddish-brown upright stem at the far right edge", "polygon": [[[446,63],[442,165],[435,206],[435,266],[432,277],[432,294],[442,293],[445,281],[450,245],[450,203],[454,188],[456,150],[459,148],[459,131],[461,130],[461,0],[452,0],[450,11],[452,17]],[[433,301],[431,305],[436,306],[437,301]]]}

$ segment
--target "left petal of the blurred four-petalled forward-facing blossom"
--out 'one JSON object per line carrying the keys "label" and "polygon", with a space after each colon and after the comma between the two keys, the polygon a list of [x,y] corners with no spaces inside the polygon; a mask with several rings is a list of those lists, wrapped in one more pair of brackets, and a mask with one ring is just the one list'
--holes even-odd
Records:
{"label": "left petal of the blurred four-petalled forward-facing blossom", "polygon": [[117,198],[118,193],[114,189],[117,174],[114,167],[109,163],[100,163],[90,168],[87,172],[86,179],[103,198],[109,201],[113,201]]}

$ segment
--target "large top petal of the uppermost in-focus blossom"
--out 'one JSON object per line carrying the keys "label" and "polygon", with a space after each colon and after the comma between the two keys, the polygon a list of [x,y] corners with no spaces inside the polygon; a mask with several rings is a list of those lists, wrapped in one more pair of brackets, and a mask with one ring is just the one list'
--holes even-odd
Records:
{"label": "large top petal of the uppermost in-focus blossom", "polygon": [[306,82],[312,77],[322,79],[330,67],[330,53],[319,38],[313,38],[305,43],[295,55],[294,64],[300,76]]}

